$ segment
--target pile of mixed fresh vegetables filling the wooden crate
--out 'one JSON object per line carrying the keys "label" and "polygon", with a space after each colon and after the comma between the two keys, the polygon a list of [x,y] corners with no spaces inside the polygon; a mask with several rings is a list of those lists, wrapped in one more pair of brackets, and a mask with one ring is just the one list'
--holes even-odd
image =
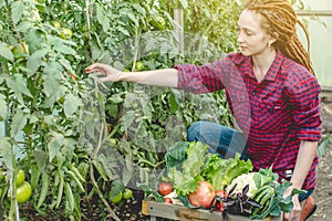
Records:
{"label": "pile of mixed fresh vegetables filling the wooden crate", "polygon": [[239,154],[222,159],[199,141],[175,144],[165,160],[167,171],[155,199],[221,212],[224,220],[227,213],[250,219],[279,217],[292,210],[292,196],[302,192],[293,190],[283,198],[291,183],[278,182],[272,168],[253,172],[251,161],[241,159]]}

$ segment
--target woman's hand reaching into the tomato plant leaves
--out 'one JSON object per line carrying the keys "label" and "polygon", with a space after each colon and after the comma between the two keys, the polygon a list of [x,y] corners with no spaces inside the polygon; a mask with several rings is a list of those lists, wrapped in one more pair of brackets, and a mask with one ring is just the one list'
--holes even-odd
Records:
{"label": "woman's hand reaching into the tomato plant leaves", "polygon": [[101,82],[117,82],[120,81],[121,71],[101,63],[94,63],[85,69],[87,74],[95,73],[97,75],[104,75]]}

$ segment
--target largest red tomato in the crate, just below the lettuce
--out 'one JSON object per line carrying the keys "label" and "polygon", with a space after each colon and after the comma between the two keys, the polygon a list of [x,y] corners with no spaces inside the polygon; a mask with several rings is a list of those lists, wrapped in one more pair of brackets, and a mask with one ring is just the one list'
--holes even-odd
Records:
{"label": "largest red tomato in the crate, just below the lettuce", "polygon": [[207,181],[199,181],[196,192],[189,193],[188,199],[194,207],[209,208],[215,196],[216,193],[211,183]]}

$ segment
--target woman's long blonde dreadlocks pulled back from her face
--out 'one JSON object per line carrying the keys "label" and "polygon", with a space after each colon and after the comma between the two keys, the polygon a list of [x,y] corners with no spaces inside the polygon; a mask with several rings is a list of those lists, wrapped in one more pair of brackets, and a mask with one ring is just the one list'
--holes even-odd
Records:
{"label": "woman's long blonde dreadlocks pulled back from her face", "polygon": [[[314,74],[309,55],[309,33],[288,0],[246,0],[243,10],[261,14],[263,18],[262,28],[276,39],[273,46]],[[305,33],[308,51],[298,36],[297,23]]]}

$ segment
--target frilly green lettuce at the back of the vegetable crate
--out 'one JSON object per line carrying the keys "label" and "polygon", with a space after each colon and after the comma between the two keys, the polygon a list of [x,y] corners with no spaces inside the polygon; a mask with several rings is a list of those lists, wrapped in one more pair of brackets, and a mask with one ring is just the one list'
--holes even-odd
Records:
{"label": "frilly green lettuce at the back of the vegetable crate", "polygon": [[195,192],[200,180],[210,182],[214,188],[224,189],[236,177],[252,170],[250,160],[235,158],[222,159],[208,151],[209,146],[200,141],[180,141],[166,154],[166,181],[173,183],[179,196]]}

